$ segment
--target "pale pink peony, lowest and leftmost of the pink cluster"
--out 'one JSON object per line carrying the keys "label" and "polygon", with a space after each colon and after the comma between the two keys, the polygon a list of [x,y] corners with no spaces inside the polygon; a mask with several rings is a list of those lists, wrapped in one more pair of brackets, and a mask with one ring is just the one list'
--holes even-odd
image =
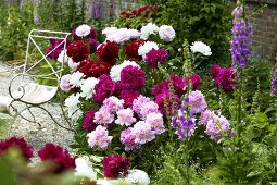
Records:
{"label": "pale pink peony, lowest and leftmost of the pink cluster", "polygon": [[102,125],[98,125],[95,131],[89,133],[87,135],[88,137],[88,145],[93,148],[93,147],[100,147],[102,149],[106,149],[109,144],[112,140],[112,136],[108,135],[108,130],[103,127]]}

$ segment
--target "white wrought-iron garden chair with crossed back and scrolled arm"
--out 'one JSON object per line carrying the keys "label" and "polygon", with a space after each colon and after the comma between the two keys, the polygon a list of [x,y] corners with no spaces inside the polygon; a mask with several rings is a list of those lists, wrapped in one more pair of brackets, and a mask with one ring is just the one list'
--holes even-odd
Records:
{"label": "white wrought-iron garden chair with crossed back and scrolled arm", "polygon": [[[55,35],[55,36],[48,36],[49,34],[51,35]],[[60,35],[61,37],[58,37],[56,35]],[[59,47],[61,47],[63,45],[63,49],[66,49],[66,40],[67,37],[71,35],[71,33],[63,33],[63,32],[51,32],[51,30],[39,30],[39,29],[33,29],[29,35],[28,35],[28,41],[27,41],[27,49],[26,49],[26,58],[25,58],[25,63],[23,65],[21,65],[21,67],[23,67],[23,72],[17,74],[16,76],[14,76],[9,85],[9,94],[12,98],[12,101],[9,104],[9,111],[11,114],[13,114],[15,118],[21,116],[22,119],[28,121],[28,122],[33,122],[33,123],[37,123],[40,127],[41,125],[36,121],[35,115],[33,114],[30,109],[37,108],[40,109],[41,111],[45,111],[50,118],[51,120],[60,127],[65,128],[67,131],[73,131],[72,128],[72,123],[70,121],[66,122],[68,124],[67,126],[64,126],[62,124],[60,124],[56,119],[53,118],[53,115],[46,109],[42,107],[43,103],[49,102],[55,95],[59,88],[59,84],[60,84],[60,78],[62,76],[62,71],[63,71],[63,62],[61,64],[61,69],[55,70],[52,64],[49,62],[48,57],[54,51],[56,50]],[[35,38],[42,38],[42,39],[62,39],[62,41],[55,47],[53,48],[49,53],[45,54],[40,47],[38,46],[38,44],[35,41]],[[29,48],[30,45],[35,45],[36,49],[38,50],[38,52],[41,54],[41,59],[36,61],[35,63],[32,64],[30,67],[27,69],[27,64],[29,63]],[[38,66],[38,64],[40,62],[46,62],[47,65],[49,65],[49,67],[51,69],[51,73],[46,74],[46,75],[35,75],[35,74],[29,74],[29,72],[35,67]],[[16,67],[15,70],[17,70],[18,67]],[[12,70],[13,71],[13,70]],[[16,78],[21,77],[21,84],[17,86],[16,88],[16,96],[14,94],[14,91],[12,90],[12,85],[14,84],[14,81]],[[30,77],[30,78],[43,78],[43,79],[51,79],[51,81],[56,81],[56,86],[45,86],[45,85],[39,85],[39,84],[35,84],[35,83],[26,83],[26,77]],[[40,89],[40,91],[38,91],[38,89]],[[33,95],[32,92],[36,91],[36,95],[39,95],[39,92],[45,92],[47,95],[48,91],[43,91],[43,90],[52,90],[51,91],[51,96],[40,100],[40,101],[34,101],[35,99],[35,95]],[[43,95],[45,95],[43,94]],[[28,97],[28,98],[26,98]],[[34,99],[33,99],[34,98]],[[43,97],[42,97],[43,98]],[[26,108],[24,108],[23,110],[18,111],[16,109],[16,106],[14,104],[15,102],[21,102],[23,104],[26,106]],[[63,108],[61,107],[63,115],[64,111]],[[25,118],[22,113],[24,111],[28,111],[32,119]]]}

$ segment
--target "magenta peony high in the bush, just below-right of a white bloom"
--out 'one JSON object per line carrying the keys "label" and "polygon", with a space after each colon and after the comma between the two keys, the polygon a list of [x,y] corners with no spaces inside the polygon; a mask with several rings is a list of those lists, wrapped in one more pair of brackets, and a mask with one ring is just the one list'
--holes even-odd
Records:
{"label": "magenta peony high in the bush, just below-right of a white bloom", "polygon": [[158,69],[158,63],[163,64],[168,58],[168,52],[165,49],[152,49],[144,58],[147,64],[152,69]]}

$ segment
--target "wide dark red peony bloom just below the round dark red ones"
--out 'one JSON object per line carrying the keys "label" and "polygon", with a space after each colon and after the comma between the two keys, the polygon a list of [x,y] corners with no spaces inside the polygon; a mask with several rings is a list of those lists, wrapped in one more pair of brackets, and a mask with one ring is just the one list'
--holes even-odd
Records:
{"label": "wide dark red peony bloom just below the round dark red ones", "polygon": [[102,74],[109,74],[111,65],[105,62],[95,62],[92,59],[84,60],[79,63],[76,71],[85,74],[85,78],[99,77]]}

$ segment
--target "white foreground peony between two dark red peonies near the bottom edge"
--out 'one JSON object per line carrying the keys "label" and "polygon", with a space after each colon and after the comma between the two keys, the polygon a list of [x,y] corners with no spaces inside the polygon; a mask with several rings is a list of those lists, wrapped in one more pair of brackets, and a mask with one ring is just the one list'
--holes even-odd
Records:
{"label": "white foreground peony between two dark red peonies near the bottom edge", "polygon": [[88,162],[84,158],[75,159],[75,175],[88,177],[90,181],[97,181],[97,173],[93,171],[91,166],[89,166]]}

